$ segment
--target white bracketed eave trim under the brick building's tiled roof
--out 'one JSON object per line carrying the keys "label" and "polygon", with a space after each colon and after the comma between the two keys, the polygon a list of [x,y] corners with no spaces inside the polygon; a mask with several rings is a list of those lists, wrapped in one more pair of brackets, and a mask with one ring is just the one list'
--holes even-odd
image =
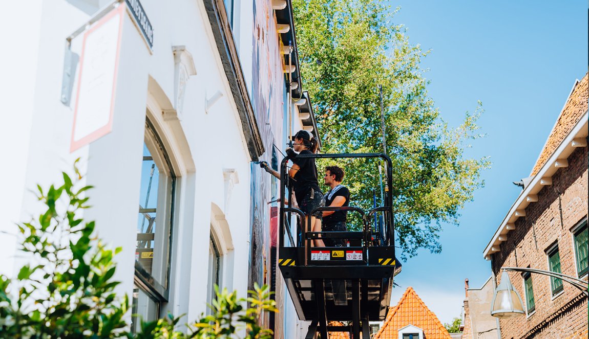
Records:
{"label": "white bracketed eave trim under the brick building's tiled roof", "polygon": [[551,178],[552,175],[556,173],[558,168],[554,167],[555,161],[557,159],[567,159],[568,156],[570,156],[571,153],[574,152],[575,147],[572,146],[573,139],[576,139],[578,137],[587,137],[588,113],[589,112],[585,112],[585,114],[579,119],[577,124],[573,127],[573,130],[571,130],[571,132],[568,133],[565,139],[562,140],[561,144],[558,146],[555,152],[552,153],[550,158],[548,158],[544,166],[542,166],[540,171],[536,173],[536,175],[532,178],[530,184],[528,184],[528,186],[525,187],[525,189],[522,190],[522,192],[519,194],[518,198],[515,200],[514,204],[509,209],[509,212],[507,213],[503,221],[501,221],[501,224],[499,225],[498,229],[495,231],[495,234],[491,238],[491,241],[489,241],[487,247],[485,247],[485,250],[483,251],[483,257],[487,257],[489,254],[496,252],[495,250],[491,249],[492,247],[497,248],[497,245],[501,243],[501,241],[499,241],[498,239],[499,234],[506,234],[505,229],[508,228],[508,224],[513,224],[515,223],[515,220],[518,219],[518,217],[515,216],[515,212],[517,210],[525,210],[525,207],[527,207],[530,204],[526,200],[527,196],[530,194],[537,194],[538,192],[540,192],[540,190],[543,187],[541,181],[545,181],[547,178]]}

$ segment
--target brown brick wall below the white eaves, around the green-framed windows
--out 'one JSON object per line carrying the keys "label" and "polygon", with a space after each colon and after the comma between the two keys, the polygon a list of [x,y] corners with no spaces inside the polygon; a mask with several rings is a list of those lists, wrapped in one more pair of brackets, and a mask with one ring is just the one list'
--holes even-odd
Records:
{"label": "brown brick wall below the white eaves, around the green-framed windows", "polygon": [[[538,193],[538,202],[525,209],[527,216],[515,222],[515,230],[509,231],[501,251],[492,255],[492,268],[498,278],[499,268],[504,266],[548,270],[545,251],[554,243],[558,243],[562,273],[577,277],[571,228],[587,217],[587,156],[587,147],[576,149],[568,157],[569,166],[552,176],[552,185],[545,186]],[[525,304],[521,273],[509,272],[509,278]],[[587,298],[565,282],[562,293],[552,297],[550,277],[532,274],[531,278],[535,313],[501,320],[501,336],[587,338]]]}

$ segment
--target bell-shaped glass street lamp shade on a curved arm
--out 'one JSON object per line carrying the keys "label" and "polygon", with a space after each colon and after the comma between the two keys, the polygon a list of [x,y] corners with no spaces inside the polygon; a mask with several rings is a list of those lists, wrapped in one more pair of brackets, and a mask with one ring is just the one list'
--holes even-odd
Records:
{"label": "bell-shaped glass street lamp shade on a curved arm", "polygon": [[493,294],[491,315],[497,318],[515,318],[524,315],[521,297],[509,280],[506,271],[501,274],[501,283]]}

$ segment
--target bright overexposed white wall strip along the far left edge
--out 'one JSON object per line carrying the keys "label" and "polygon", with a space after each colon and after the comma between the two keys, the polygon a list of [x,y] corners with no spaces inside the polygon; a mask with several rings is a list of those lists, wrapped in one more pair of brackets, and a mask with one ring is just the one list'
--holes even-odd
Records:
{"label": "bright overexposed white wall strip along the far left edge", "polygon": [[[0,123],[0,274],[12,276],[16,227],[20,219],[22,187],[34,113],[41,0],[11,1],[0,5],[0,96],[4,109]],[[26,13],[24,15],[17,15]],[[18,34],[9,33],[18,32]]]}

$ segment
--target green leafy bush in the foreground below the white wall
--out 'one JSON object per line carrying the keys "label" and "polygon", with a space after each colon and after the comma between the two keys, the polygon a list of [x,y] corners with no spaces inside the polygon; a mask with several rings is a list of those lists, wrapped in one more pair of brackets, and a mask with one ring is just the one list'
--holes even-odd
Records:
{"label": "green leafy bush in the foreground below the white wall", "polygon": [[[168,314],[142,321],[138,333],[129,331],[129,300],[119,297],[113,281],[115,254],[95,236],[94,221],[84,221],[87,209],[82,176],[63,173],[63,183],[48,190],[37,186],[44,205],[38,218],[18,224],[20,250],[28,264],[15,278],[0,275],[0,338],[234,338],[243,328],[246,338],[266,339],[272,331],[259,325],[266,312],[276,312],[268,286],[255,286],[248,298],[217,290],[213,314],[176,330],[180,317]],[[32,263],[32,264],[31,264]],[[248,302],[252,307],[244,308]]]}

